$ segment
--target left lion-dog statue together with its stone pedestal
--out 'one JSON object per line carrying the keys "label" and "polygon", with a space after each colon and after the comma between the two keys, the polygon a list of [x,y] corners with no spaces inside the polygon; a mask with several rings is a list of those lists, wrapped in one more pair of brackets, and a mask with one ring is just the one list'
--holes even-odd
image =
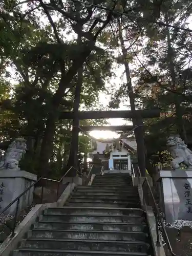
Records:
{"label": "left lion-dog statue together with its stone pedestal", "polygon": [[[15,139],[0,161],[0,212],[37,180],[36,175],[18,167],[26,150],[26,140]],[[19,199],[19,211],[31,205],[33,191],[34,187]],[[5,214],[14,214],[15,209],[16,202],[6,210]]]}

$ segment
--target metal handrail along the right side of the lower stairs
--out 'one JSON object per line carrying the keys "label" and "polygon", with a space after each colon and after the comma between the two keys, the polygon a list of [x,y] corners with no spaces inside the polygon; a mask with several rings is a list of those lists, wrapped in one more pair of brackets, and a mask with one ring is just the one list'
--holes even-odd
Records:
{"label": "metal handrail along the right side of the lower stairs", "polygon": [[[138,178],[142,178],[141,176],[141,171],[140,171],[140,168],[139,166],[137,167],[138,168]],[[139,182],[140,183],[140,182]],[[163,229],[163,232],[164,232],[164,235],[165,235],[165,240],[166,240],[166,245],[168,246],[168,249],[170,251],[170,253],[173,255],[173,256],[181,256],[181,255],[178,255],[176,254],[174,251],[173,251],[173,248],[172,248],[172,245],[170,244],[170,241],[169,241],[169,238],[168,238],[168,234],[166,232],[166,229],[165,229],[165,226],[164,226],[164,223],[163,223],[163,220],[162,220],[162,217],[161,217],[161,214],[160,214],[160,211],[158,209],[158,206],[157,206],[157,203],[155,201],[155,197],[154,197],[154,194],[153,194],[153,191],[151,189],[151,186],[150,186],[150,183],[148,182],[147,178],[144,177],[144,181],[143,181],[143,184],[142,184],[142,189],[143,189],[143,185],[144,184],[147,184],[147,187],[148,189],[150,190],[150,194],[152,196],[152,199],[153,199],[153,203],[154,203],[154,206],[155,206],[155,210],[154,210],[154,214],[155,214],[155,221],[156,221],[156,233],[157,233],[157,241],[156,241],[156,244],[157,246],[160,246],[160,236],[159,236],[159,231],[158,231],[158,220],[160,221],[160,224],[161,224],[161,227]],[[146,205],[146,200],[145,200],[145,195],[143,193],[143,204]]]}

